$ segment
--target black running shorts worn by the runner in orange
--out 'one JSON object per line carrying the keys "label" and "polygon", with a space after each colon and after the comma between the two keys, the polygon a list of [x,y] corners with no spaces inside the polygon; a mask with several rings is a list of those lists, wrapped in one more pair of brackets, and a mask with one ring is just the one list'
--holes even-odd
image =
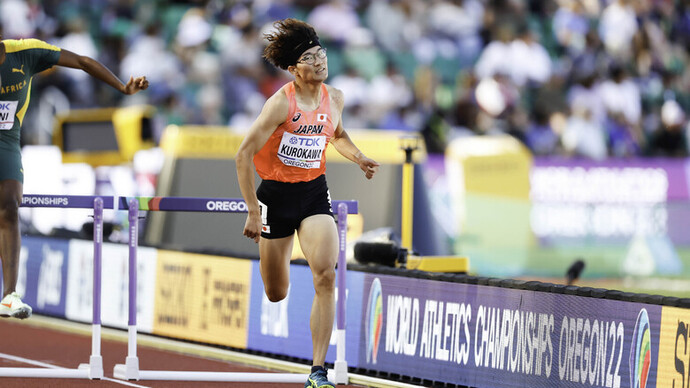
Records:
{"label": "black running shorts worn by the runner in orange", "polygon": [[256,196],[261,208],[263,238],[292,236],[302,220],[309,216],[333,216],[325,175],[298,183],[264,180],[256,190]]}

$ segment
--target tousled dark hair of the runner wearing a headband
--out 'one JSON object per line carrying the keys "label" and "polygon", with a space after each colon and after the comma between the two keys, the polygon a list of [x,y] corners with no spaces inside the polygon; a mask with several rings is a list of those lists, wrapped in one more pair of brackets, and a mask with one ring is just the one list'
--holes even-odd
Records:
{"label": "tousled dark hair of the runner wearing a headband", "polygon": [[273,23],[273,27],[276,31],[264,34],[269,43],[263,56],[283,70],[296,64],[303,52],[321,45],[314,27],[301,20],[283,19]]}

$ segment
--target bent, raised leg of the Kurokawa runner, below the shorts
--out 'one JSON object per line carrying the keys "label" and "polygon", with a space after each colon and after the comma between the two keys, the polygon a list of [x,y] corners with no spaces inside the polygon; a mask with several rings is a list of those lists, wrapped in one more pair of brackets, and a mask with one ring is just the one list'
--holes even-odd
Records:
{"label": "bent, raised leg of the Kurokawa runner, below the shorts", "polygon": [[259,240],[259,268],[268,300],[279,302],[287,296],[290,288],[290,256],[294,235]]}

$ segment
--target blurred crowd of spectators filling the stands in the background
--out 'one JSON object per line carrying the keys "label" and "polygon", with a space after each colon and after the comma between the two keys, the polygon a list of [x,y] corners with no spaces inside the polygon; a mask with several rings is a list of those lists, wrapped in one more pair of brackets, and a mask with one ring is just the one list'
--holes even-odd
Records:
{"label": "blurred crowd of spectators filling the stands in the background", "polygon": [[34,79],[23,142],[74,108],[157,107],[168,124],[246,132],[291,77],[267,64],[275,20],[311,23],[346,128],[420,131],[430,152],[507,133],[535,155],[687,156],[690,0],[2,0],[3,39],[99,59],[148,92],[85,73]]}

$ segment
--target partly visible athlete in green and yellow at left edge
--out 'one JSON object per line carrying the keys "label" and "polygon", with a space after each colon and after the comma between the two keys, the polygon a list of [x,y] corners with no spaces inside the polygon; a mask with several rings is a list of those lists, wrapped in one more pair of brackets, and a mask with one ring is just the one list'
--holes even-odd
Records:
{"label": "partly visible athlete in green and yellow at left edge", "polygon": [[146,77],[130,77],[124,84],[98,61],[37,39],[0,41],[0,259],[4,282],[1,317],[31,316],[31,307],[15,292],[21,247],[19,204],[24,182],[19,131],[29,107],[32,77],[55,65],[81,69],[123,94],[148,87]]}

